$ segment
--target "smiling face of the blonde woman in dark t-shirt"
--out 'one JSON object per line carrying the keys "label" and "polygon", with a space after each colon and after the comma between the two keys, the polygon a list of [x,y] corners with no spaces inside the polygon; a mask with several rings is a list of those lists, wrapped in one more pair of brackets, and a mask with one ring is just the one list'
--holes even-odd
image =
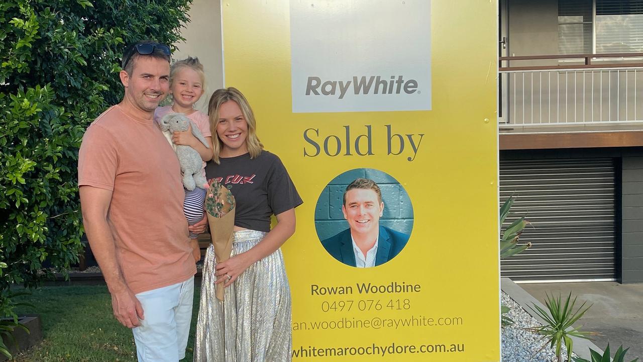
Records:
{"label": "smiling face of the blonde woman in dark t-shirt", "polygon": [[228,100],[219,107],[219,124],[217,124],[217,135],[223,147],[223,157],[235,157],[248,153],[248,122],[244,117],[239,104]]}

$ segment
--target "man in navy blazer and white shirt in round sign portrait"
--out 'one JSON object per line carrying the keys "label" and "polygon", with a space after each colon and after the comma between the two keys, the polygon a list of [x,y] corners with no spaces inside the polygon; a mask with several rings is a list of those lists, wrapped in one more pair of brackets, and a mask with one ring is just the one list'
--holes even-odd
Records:
{"label": "man in navy blazer and white shirt in round sign portrait", "polygon": [[368,268],[394,258],[408,242],[407,234],[379,225],[384,213],[382,191],[368,178],[358,178],[344,191],[341,212],[349,229],[323,240],[335,259],[352,267]]}

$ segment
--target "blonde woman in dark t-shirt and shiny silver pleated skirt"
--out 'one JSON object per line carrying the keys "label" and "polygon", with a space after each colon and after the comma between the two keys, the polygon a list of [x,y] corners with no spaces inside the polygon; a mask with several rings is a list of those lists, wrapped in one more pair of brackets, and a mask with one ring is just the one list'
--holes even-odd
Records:
{"label": "blonde woman in dark t-shirt and shiny silver pleated skirt", "polygon": [[[203,270],[194,361],[291,361],[290,289],[279,247],[294,233],[302,199],[281,160],[264,151],[239,90],[215,91],[208,113],[217,137],[206,177],[230,189],[236,214],[231,258]],[[277,224],[270,229],[273,214]],[[224,283],[222,303],[206,273]]]}

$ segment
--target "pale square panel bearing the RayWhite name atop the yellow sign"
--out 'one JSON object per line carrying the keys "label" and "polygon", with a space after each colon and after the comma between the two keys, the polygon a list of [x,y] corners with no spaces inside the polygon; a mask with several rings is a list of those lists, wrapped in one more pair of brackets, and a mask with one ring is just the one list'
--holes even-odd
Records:
{"label": "pale square panel bearing the RayWhite name atop the yellow sign", "polygon": [[430,0],[291,0],[293,112],[431,110],[430,11]]}

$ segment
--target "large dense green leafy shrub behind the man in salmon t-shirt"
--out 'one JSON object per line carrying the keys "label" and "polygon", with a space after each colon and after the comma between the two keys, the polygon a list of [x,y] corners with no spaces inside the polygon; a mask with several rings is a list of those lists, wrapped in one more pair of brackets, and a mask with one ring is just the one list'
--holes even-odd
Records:
{"label": "large dense green leafy shrub behind the man in salmon t-shirt", "polygon": [[0,1],[0,318],[11,285],[77,262],[84,130],[122,99],[125,44],[183,40],[191,2]]}

